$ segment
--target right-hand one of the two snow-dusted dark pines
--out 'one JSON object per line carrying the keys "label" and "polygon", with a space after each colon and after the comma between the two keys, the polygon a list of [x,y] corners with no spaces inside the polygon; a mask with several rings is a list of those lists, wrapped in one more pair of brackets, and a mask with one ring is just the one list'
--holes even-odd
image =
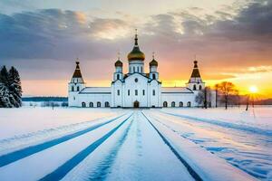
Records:
{"label": "right-hand one of the two snow-dusted dark pines", "polygon": [[10,101],[15,108],[19,108],[22,106],[22,86],[19,72],[15,67],[11,67],[8,72],[8,82]]}

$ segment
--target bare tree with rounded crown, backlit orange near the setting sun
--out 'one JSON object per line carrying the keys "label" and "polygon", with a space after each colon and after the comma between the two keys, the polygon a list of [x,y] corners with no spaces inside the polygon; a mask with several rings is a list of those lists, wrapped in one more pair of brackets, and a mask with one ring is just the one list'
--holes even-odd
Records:
{"label": "bare tree with rounded crown, backlit orange near the setting sun", "polygon": [[237,93],[236,86],[229,81],[222,81],[219,83],[219,91],[223,94],[223,101],[225,103],[225,109],[228,109],[228,96]]}

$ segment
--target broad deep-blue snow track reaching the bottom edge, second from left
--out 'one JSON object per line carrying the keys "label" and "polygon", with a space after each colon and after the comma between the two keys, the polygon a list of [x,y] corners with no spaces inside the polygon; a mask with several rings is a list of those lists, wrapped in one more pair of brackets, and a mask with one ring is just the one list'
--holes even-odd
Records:
{"label": "broad deep-blue snow track reaching the bottom edge, second from left", "polygon": [[[132,115],[132,114],[131,114]],[[66,161],[62,166],[58,167],[56,170],[54,170],[52,173],[44,176],[41,178],[41,181],[52,181],[52,180],[61,180],[64,176],[66,176],[73,167],[76,167],[79,163],[83,161],[85,157],[88,157],[92,152],[98,148],[107,138],[110,138],[112,134],[121,127],[128,119],[130,119],[131,116],[127,119],[124,119],[117,127],[109,131],[107,134],[102,136],[102,138],[97,139],[94,141],[91,145],[89,145],[87,148],[84,148],[81,152],[76,154],[74,157]]]}

